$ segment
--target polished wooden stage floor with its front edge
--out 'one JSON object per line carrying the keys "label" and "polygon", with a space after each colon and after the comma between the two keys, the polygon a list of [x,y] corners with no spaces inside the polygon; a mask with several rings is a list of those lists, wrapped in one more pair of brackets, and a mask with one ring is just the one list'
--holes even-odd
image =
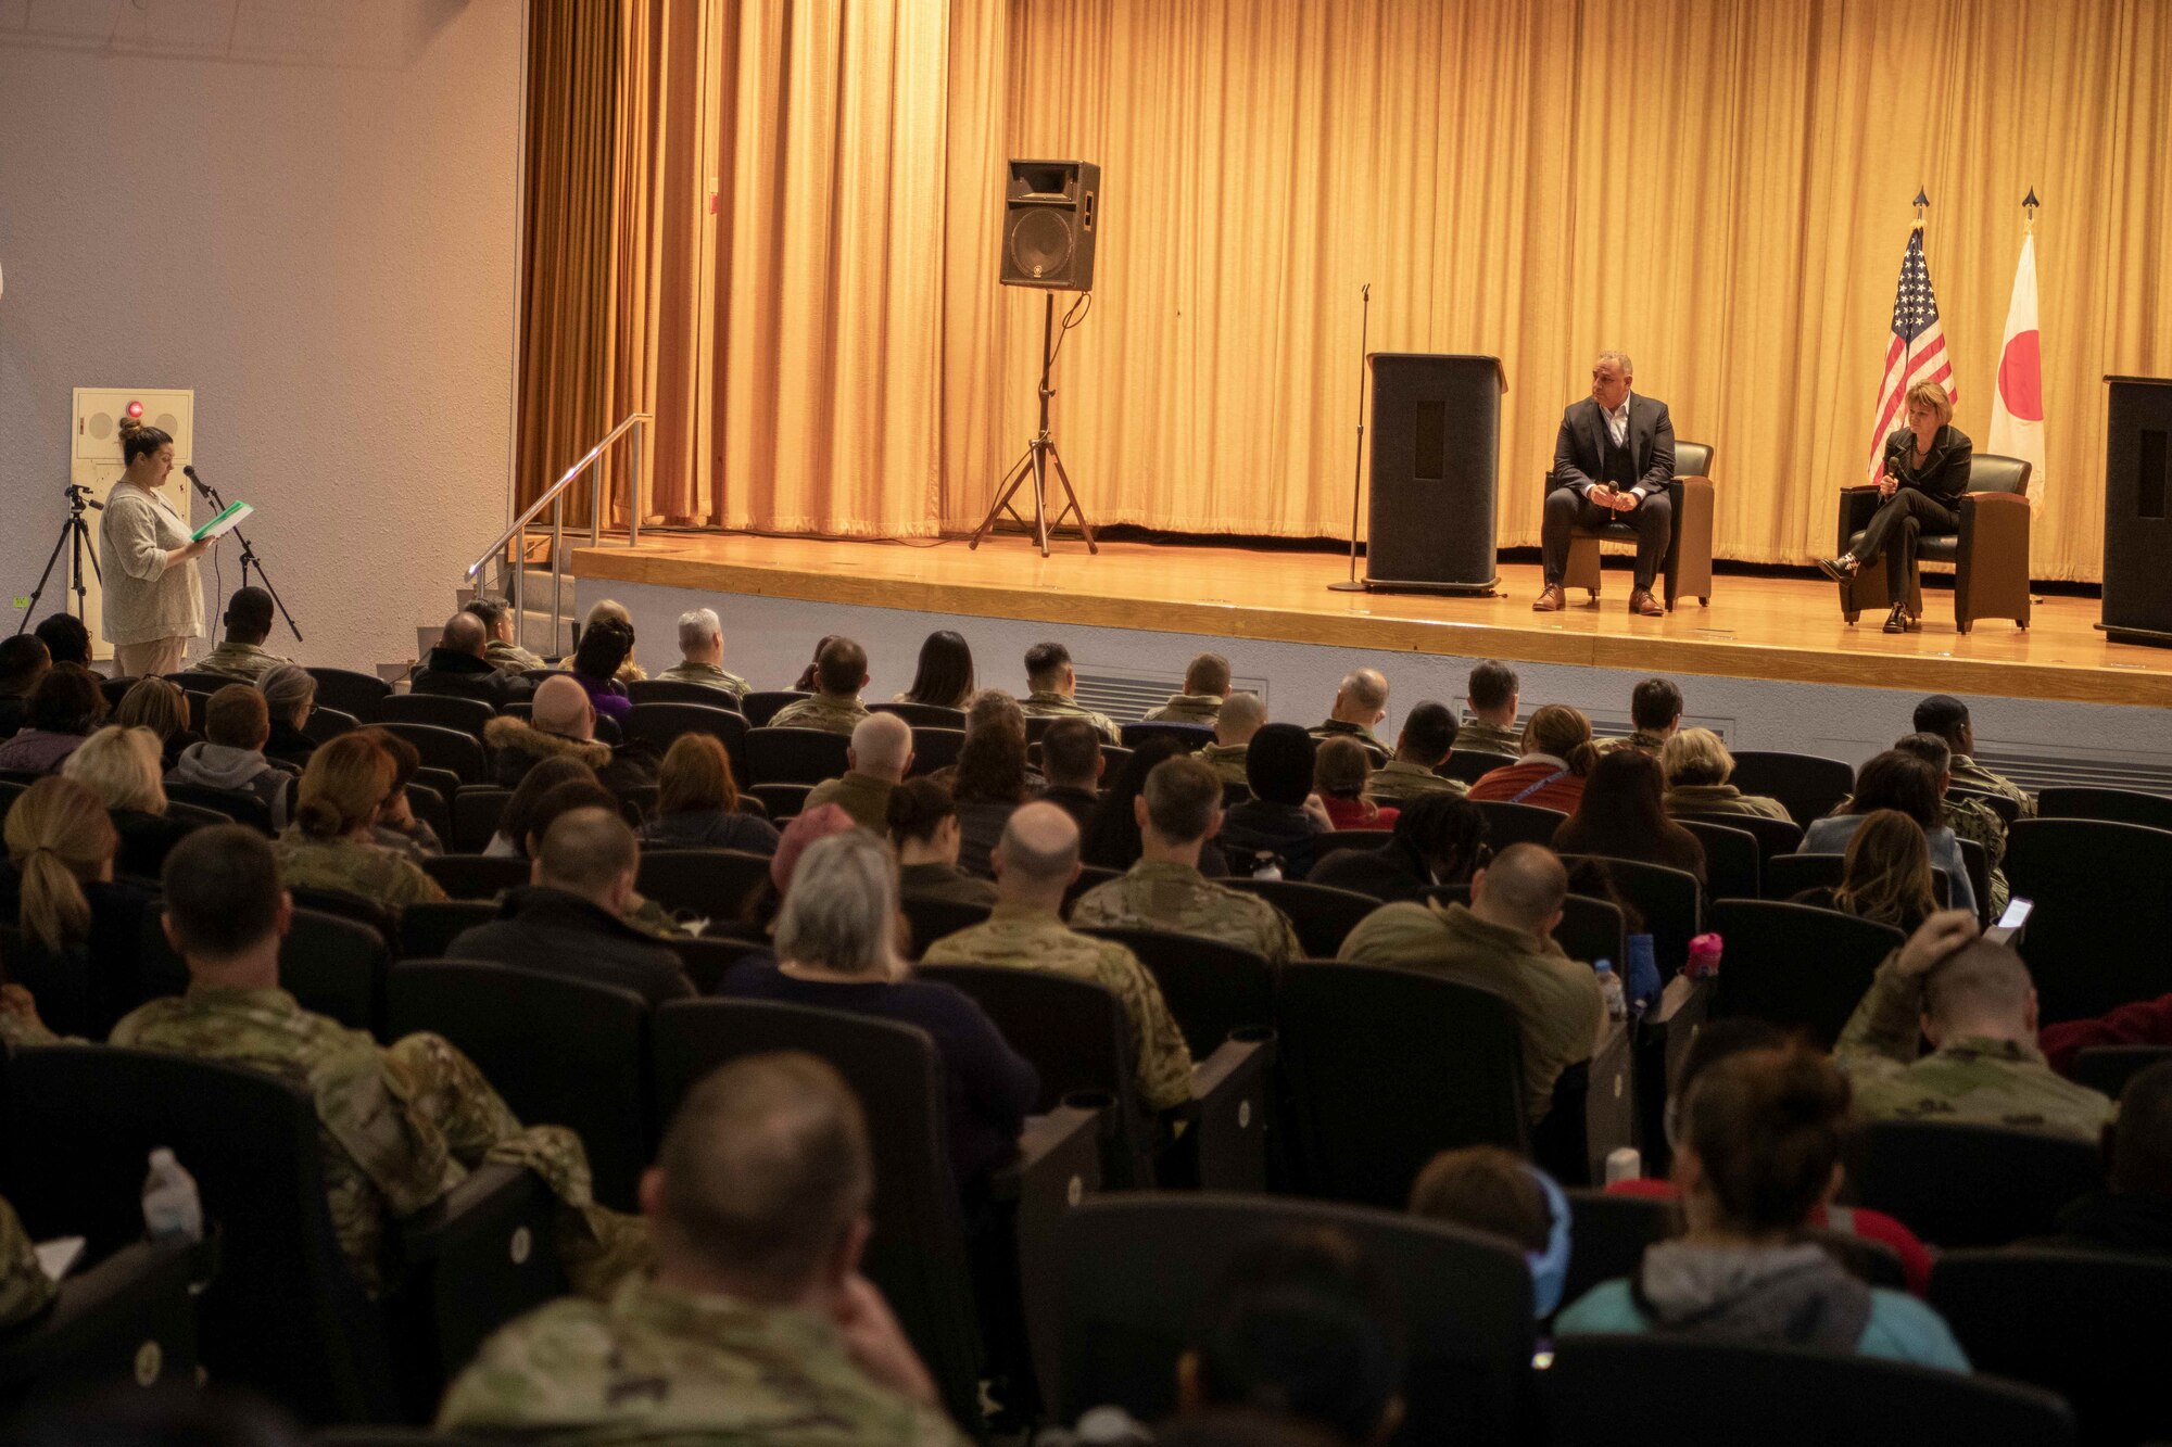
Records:
{"label": "polished wooden stage floor with its front edge", "polygon": [[[1612,558],[1609,558],[1612,563]],[[1629,617],[1629,574],[1605,574],[1596,608],[1531,613],[1538,565],[1503,567],[1499,597],[1331,593],[1340,556],[1064,541],[1040,558],[1030,539],[904,545],[749,534],[645,534],[641,545],[580,548],[580,578],[806,597],[869,608],[1045,619],[1153,632],[1325,643],[1373,652],[1492,656],[1653,674],[1712,674],[1870,689],[1992,693],[2092,704],[2172,704],[2172,650],[2107,643],[2094,597],[2044,597],[2026,632],[1953,628],[1953,595],[1924,593],[1922,632],[1887,637],[1879,615],[1848,628],[1820,580],[1714,580],[1712,606],[1685,600],[1664,619]]]}

